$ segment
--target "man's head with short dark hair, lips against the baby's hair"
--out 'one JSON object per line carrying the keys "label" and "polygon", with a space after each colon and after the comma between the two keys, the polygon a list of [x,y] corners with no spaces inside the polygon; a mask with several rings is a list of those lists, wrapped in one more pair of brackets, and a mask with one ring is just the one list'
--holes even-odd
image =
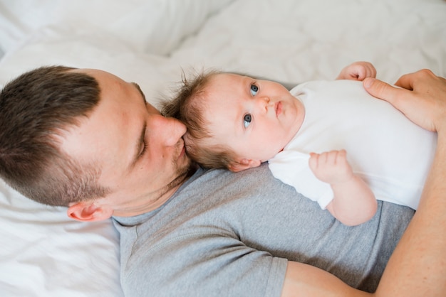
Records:
{"label": "man's head with short dark hair, lips against the baby's hair", "polygon": [[[39,72],[49,73],[38,83],[35,79],[41,76]],[[187,178],[190,160],[185,156],[181,138],[185,126],[180,121],[160,116],[145,102],[135,83],[100,70],[41,68],[26,75],[34,79],[19,77],[2,91],[1,108],[11,111],[2,110],[1,113],[15,114],[14,117],[19,118],[23,109],[13,95],[19,90],[27,92],[36,101],[34,105],[41,106],[41,112],[26,114],[26,117],[30,117],[33,124],[44,123],[39,127],[42,131],[38,136],[46,139],[41,144],[46,150],[44,153],[51,153],[48,156],[36,154],[23,141],[16,144],[14,151],[14,145],[9,144],[14,141],[10,136],[2,134],[0,139],[1,176],[28,197],[45,202],[45,196],[51,195],[51,203],[46,203],[69,206],[70,217],[100,220],[110,215],[137,215],[155,209]],[[76,77],[88,79],[88,82],[73,85]],[[95,97],[85,100],[89,104],[81,103],[82,96],[78,94],[86,85],[90,85],[91,90],[85,93]],[[66,91],[59,95],[61,86],[65,86]],[[16,91],[11,93],[9,90],[13,87]],[[60,109],[67,109],[66,114],[59,115],[59,109],[48,107],[56,104],[54,101],[61,105]],[[85,107],[78,107],[81,104]],[[69,113],[71,105],[82,111]],[[45,117],[39,120],[42,115]],[[11,115],[9,119],[1,122],[1,126],[11,127],[9,135],[11,130],[21,128],[28,138],[38,142],[38,136],[34,136],[29,127],[19,127],[27,121],[12,119]],[[15,156],[16,153],[19,156]],[[22,173],[27,169],[16,171],[14,159],[3,161],[5,157],[15,156],[19,162],[26,163],[21,161],[20,155],[36,160],[37,164],[33,166],[33,173],[25,177]],[[69,171],[67,166],[71,166]],[[51,185],[53,180],[56,185]],[[98,190],[85,192],[85,183]],[[53,194],[56,186],[60,189]],[[77,190],[66,190],[72,186]]]}

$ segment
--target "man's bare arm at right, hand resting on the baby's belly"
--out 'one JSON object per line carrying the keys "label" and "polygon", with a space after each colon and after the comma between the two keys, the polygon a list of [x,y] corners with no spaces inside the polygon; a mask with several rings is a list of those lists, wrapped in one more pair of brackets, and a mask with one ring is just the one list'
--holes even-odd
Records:
{"label": "man's bare arm at right, hand resting on the baby's belly", "polygon": [[390,87],[365,80],[371,95],[393,104],[415,124],[437,131],[437,150],[420,205],[385,268],[376,296],[446,296],[446,80],[429,70]]}

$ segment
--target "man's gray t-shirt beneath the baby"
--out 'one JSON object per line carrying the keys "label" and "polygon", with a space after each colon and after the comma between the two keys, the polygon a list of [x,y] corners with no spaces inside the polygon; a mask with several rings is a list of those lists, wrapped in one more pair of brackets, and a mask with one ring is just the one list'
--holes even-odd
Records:
{"label": "man's gray t-shirt beneath the baby", "polygon": [[413,210],[346,227],[271,175],[199,170],[165,205],[115,217],[126,296],[280,296],[287,259],[374,291]]}

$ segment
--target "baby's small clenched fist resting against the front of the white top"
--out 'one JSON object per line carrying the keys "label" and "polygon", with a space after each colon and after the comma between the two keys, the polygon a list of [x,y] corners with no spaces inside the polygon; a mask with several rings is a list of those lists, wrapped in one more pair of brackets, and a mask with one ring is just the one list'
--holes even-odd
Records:
{"label": "baby's small clenched fist resting against the front of the white top", "polygon": [[310,153],[309,166],[316,178],[325,183],[343,183],[353,177],[345,150]]}

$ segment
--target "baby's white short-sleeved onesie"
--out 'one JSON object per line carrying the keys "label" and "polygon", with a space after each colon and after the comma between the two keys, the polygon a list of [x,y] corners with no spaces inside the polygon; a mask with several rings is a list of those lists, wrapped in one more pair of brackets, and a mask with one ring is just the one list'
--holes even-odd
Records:
{"label": "baby's white short-sleeved onesie", "polygon": [[309,153],[345,149],[353,171],[378,200],[417,209],[437,134],[413,124],[388,102],[370,96],[362,82],[306,82],[291,94],[304,104],[304,123],[284,150],[269,160],[274,177],[324,209],[333,191],[313,175]]}

